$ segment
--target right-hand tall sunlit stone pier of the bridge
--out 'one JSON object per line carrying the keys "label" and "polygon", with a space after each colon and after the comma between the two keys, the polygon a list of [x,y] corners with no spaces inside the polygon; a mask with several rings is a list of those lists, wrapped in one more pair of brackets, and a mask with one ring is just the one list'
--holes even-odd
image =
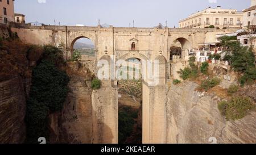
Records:
{"label": "right-hand tall sunlit stone pier of the bridge", "polygon": [[143,82],[142,143],[167,143],[165,85],[148,86]]}

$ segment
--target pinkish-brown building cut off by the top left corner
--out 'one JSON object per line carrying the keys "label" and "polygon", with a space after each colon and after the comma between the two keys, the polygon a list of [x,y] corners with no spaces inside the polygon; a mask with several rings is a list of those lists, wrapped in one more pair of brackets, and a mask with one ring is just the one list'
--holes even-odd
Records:
{"label": "pinkish-brown building cut off by the top left corner", "polygon": [[14,0],[0,0],[0,23],[14,22]]}

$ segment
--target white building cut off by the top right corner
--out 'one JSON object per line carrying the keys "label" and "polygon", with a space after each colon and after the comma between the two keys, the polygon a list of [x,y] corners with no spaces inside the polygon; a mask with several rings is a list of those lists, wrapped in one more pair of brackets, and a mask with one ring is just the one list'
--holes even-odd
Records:
{"label": "white building cut off by the top right corner", "polygon": [[256,0],[251,0],[251,6],[243,10],[243,27],[256,25]]}

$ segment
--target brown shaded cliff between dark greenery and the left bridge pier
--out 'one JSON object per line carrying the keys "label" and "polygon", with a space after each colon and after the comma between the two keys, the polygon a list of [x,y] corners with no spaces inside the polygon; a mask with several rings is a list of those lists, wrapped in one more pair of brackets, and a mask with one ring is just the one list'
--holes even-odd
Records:
{"label": "brown shaded cliff between dark greenery and the left bridge pier", "polygon": [[82,64],[71,62],[69,93],[63,111],[51,114],[50,143],[91,143],[92,139],[92,74]]}

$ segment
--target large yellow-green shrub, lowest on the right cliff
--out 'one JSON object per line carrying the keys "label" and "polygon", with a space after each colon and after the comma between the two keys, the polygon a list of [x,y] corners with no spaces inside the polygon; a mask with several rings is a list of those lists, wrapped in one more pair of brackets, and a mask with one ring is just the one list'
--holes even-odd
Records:
{"label": "large yellow-green shrub, lowest on the right cliff", "polygon": [[237,120],[245,117],[255,104],[249,97],[234,97],[232,100],[220,102],[218,109],[227,120]]}

